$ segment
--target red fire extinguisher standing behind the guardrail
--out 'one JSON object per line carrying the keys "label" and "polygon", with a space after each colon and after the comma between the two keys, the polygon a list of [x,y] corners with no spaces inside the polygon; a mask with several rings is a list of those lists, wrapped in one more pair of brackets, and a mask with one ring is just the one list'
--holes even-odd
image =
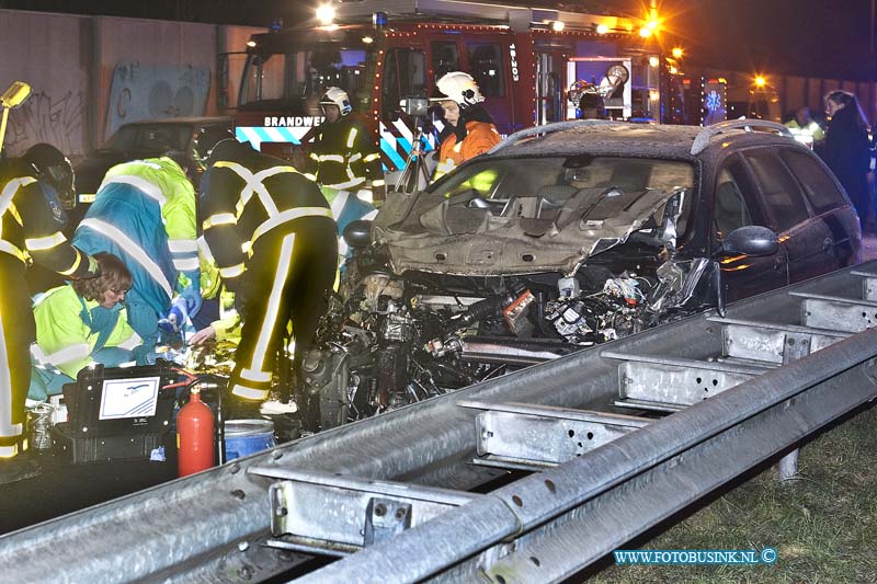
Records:
{"label": "red fire extinguisher standing behind the guardrail", "polygon": [[201,401],[201,390],[192,388],[189,403],[176,416],[176,468],[180,477],[213,467],[213,411]]}

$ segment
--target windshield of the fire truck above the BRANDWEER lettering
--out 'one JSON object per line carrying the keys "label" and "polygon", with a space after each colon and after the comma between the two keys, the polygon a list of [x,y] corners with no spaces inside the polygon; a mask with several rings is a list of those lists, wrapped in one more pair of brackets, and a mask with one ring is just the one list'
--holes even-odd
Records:
{"label": "windshield of the fire truck above the BRANDWEER lettering", "polygon": [[[319,99],[329,87],[351,98],[366,83],[364,48],[324,47],[284,53],[253,53],[241,79],[241,110],[283,110],[293,115],[320,115]],[[366,88],[367,90],[367,88]]]}

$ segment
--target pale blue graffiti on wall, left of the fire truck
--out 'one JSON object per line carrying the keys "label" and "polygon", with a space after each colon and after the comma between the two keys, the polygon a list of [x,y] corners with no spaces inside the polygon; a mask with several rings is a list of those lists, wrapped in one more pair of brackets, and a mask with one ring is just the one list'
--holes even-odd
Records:
{"label": "pale blue graffiti on wall, left of the fire truck", "polygon": [[110,85],[105,135],[127,122],[204,115],[209,90],[208,68],[118,62]]}

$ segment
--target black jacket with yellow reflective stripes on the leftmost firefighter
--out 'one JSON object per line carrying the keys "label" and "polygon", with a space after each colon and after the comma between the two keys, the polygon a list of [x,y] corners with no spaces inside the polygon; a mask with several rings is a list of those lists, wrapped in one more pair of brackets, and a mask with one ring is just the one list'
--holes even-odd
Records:
{"label": "black jacket with yellow reflective stripes on the leftmost firefighter", "polygon": [[[0,253],[22,262],[32,260],[65,276],[83,277],[96,262],[70,245],[61,233],[67,215],[52,187],[29,176],[15,159],[0,171]],[[4,285],[2,283],[0,285]]]}

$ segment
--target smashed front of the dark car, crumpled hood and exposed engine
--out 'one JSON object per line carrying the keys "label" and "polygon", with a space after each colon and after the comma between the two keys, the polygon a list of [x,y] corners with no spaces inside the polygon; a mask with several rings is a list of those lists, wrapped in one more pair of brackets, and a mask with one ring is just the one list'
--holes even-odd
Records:
{"label": "smashed front of the dark car, crumpled hood and exposed engine", "polygon": [[[589,184],[595,164],[611,171],[619,160],[652,176],[672,164],[662,169],[672,183]],[[715,304],[714,263],[677,250],[688,164],[553,159],[543,161],[554,169],[550,188],[505,183],[543,193],[515,195],[497,185],[520,169],[514,162],[467,165],[424,193],[392,193],[374,225],[345,230],[341,286],[301,370],[322,428]]]}

